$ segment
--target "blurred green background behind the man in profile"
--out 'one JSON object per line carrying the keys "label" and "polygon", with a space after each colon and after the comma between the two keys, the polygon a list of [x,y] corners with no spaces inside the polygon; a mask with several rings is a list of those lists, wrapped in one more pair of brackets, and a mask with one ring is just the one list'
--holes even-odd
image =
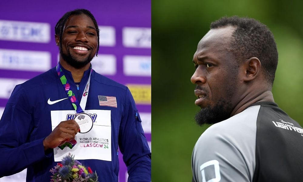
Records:
{"label": "blurred green background behind the man in profile", "polygon": [[193,117],[190,78],[199,40],[222,16],[258,19],[271,29],[279,60],[275,102],[303,126],[303,2],[300,1],[152,1],[152,181],[191,181],[191,152],[208,127]]}

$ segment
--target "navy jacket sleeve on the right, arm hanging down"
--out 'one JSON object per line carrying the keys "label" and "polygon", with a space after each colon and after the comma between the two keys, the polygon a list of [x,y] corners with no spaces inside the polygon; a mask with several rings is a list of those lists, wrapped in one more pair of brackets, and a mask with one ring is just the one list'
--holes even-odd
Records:
{"label": "navy jacket sleeve on the right, arm hanging down", "polygon": [[128,181],[151,181],[151,152],[129,89],[126,91],[118,144],[127,166]]}

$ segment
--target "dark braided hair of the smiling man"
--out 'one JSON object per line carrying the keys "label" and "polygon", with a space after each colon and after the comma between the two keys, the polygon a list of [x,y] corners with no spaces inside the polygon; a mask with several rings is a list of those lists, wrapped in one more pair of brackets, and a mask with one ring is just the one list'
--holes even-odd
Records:
{"label": "dark braided hair of the smiling man", "polygon": [[71,15],[88,15],[92,19],[92,21],[94,22],[95,27],[96,27],[96,31],[97,31],[97,37],[98,37],[98,47],[97,47],[97,52],[96,52],[96,56],[97,56],[98,51],[99,51],[99,28],[98,28],[98,24],[96,22],[96,19],[95,19],[94,15],[92,15],[92,13],[90,11],[88,11],[87,9],[75,9],[73,11],[67,12],[57,22],[57,24],[55,26],[55,34],[59,35],[59,42],[60,42],[61,52],[62,52],[62,35],[63,35],[63,32],[64,32],[63,28],[64,28],[65,23],[67,22],[68,18]]}

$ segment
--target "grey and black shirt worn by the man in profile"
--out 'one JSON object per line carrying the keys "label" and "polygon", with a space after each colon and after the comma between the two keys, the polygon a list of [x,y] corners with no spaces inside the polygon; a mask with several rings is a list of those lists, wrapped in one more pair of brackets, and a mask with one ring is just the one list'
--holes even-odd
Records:
{"label": "grey and black shirt worn by the man in profile", "polygon": [[255,103],[205,130],[191,166],[195,182],[303,181],[303,129],[276,103]]}

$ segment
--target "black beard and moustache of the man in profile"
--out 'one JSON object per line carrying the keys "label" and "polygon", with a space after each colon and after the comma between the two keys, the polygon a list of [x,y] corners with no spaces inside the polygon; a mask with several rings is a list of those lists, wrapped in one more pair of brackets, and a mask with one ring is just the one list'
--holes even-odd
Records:
{"label": "black beard and moustache of the man in profile", "polygon": [[[233,110],[231,99],[235,94],[235,90],[230,87],[226,90],[226,96],[218,99],[214,106],[208,104],[205,108],[196,113],[195,120],[199,126],[204,124],[215,124],[227,120]],[[196,86],[196,89],[204,90],[201,86]],[[208,93],[208,92],[206,92]]]}

